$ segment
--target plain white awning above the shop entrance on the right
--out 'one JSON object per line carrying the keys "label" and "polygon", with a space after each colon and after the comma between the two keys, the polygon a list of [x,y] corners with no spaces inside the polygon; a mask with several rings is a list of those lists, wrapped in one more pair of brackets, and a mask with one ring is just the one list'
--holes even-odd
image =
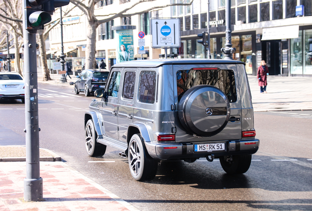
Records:
{"label": "plain white awning above the shop entrance on the right", "polygon": [[263,28],[261,40],[281,40],[299,37],[299,25]]}

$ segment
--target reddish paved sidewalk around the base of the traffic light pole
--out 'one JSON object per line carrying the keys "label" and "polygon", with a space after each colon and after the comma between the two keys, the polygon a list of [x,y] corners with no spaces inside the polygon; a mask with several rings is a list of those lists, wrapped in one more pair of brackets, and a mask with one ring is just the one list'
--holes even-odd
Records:
{"label": "reddish paved sidewalk around the base of the traffic light pole", "polygon": [[0,163],[0,211],[138,211],[63,162],[41,162],[43,200],[24,197],[26,162]]}

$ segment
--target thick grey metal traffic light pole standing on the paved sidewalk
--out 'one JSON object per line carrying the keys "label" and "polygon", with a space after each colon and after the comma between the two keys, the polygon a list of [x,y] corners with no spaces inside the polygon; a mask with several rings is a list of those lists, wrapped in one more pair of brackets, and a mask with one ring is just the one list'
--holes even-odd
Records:
{"label": "thick grey metal traffic light pole standing on the paved sidewalk", "polygon": [[[23,1],[23,8],[26,8]],[[25,9],[26,10],[26,9]],[[24,179],[24,200],[43,199],[43,179],[40,177],[39,160],[39,118],[38,82],[36,57],[36,32],[26,30],[26,12],[23,11],[24,78],[25,78],[25,122],[26,122],[26,178]]]}

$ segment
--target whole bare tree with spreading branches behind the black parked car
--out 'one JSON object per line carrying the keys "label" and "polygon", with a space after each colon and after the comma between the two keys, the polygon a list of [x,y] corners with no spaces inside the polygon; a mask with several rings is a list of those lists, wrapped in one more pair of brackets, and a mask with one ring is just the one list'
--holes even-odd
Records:
{"label": "whole bare tree with spreading branches behind the black parked car", "polygon": [[[96,46],[96,29],[97,27],[105,22],[112,21],[116,18],[123,18],[123,17],[129,17],[133,15],[139,15],[146,13],[150,10],[154,10],[157,8],[164,8],[168,6],[174,6],[174,5],[191,5],[193,3],[193,0],[190,0],[190,2],[186,3],[186,0],[183,0],[184,3],[162,3],[159,4],[159,6],[154,6],[156,3],[159,3],[160,0],[131,0],[128,2],[128,0],[121,0],[122,2],[127,2],[125,6],[121,7],[121,10],[117,13],[110,13],[109,11],[105,11],[104,15],[103,12],[104,8],[101,10],[101,15],[95,14],[95,4],[98,3],[100,0],[70,0],[71,3],[76,5],[86,16],[87,18],[87,46],[86,46],[86,68],[95,68],[94,61],[95,61],[95,46]],[[119,0],[117,0],[119,2]],[[140,9],[142,4],[149,3],[149,6],[145,9]],[[161,1],[161,2],[168,2]],[[146,9],[147,8],[147,9]],[[135,12],[131,12],[132,10],[136,10]]]}

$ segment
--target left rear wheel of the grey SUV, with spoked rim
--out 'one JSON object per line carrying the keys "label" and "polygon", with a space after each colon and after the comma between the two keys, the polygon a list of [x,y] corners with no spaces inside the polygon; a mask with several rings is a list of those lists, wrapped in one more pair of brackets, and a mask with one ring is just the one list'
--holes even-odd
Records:
{"label": "left rear wheel of the grey SUV, with spoked rim", "polygon": [[130,139],[128,159],[130,172],[135,180],[143,181],[155,177],[158,161],[147,153],[140,134],[134,134]]}

